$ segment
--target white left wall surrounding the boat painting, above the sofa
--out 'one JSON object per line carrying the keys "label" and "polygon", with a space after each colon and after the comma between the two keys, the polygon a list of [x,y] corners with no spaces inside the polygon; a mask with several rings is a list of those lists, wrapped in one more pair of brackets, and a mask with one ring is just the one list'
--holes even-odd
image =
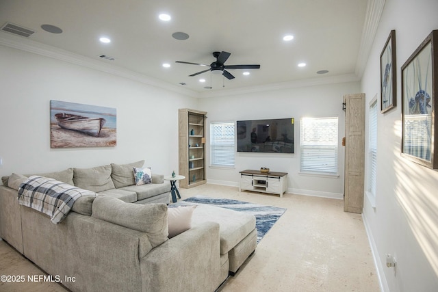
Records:
{"label": "white left wall surrounding the boat painting, above the sofa", "polygon": [[[0,176],[144,159],[178,169],[178,109],[196,98],[0,45]],[[50,148],[50,100],[117,110],[117,146]]]}

